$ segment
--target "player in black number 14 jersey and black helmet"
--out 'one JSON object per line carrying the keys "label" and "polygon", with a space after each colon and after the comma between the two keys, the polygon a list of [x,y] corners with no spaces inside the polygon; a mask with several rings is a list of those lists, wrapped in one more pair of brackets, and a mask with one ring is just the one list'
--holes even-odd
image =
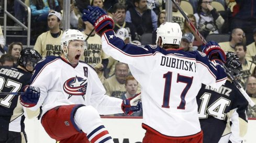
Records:
{"label": "player in black number 14 jersey and black helmet", "polygon": [[[235,53],[228,51],[226,57],[225,66],[237,79],[242,73],[242,64]],[[203,142],[242,142],[247,131],[248,101],[229,77],[219,88],[202,85],[197,103]]]}

